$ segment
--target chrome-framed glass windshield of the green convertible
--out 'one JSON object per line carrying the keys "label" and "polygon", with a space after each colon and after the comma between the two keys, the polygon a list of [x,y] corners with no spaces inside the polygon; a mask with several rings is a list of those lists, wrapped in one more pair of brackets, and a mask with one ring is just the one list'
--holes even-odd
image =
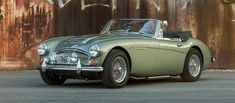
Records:
{"label": "chrome-framed glass windshield of the green convertible", "polygon": [[158,20],[112,20],[102,34],[142,35],[153,37]]}

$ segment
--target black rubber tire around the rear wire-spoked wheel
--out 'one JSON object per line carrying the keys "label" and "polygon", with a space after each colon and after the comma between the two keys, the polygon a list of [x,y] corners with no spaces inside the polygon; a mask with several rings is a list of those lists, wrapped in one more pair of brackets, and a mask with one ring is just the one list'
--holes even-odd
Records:
{"label": "black rubber tire around the rear wire-spoked wheel", "polygon": [[[192,64],[189,64],[190,63],[190,58],[193,58],[193,56],[196,57],[196,58],[197,57],[199,58],[199,60],[196,59],[194,61],[200,61],[200,64],[195,62],[196,64],[200,65],[200,68],[195,70],[195,75],[190,72],[190,67],[193,68],[194,66],[190,66]],[[186,56],[186,59],[185,59],[183,73],[181,73],[181,75],[180,75],[181,79],[184,82],[197,81],[201,76],[202,69],[203,69],[203,62],[202,62],[201,53],[197,49],[191,48],[189,50],[187,56]]]}

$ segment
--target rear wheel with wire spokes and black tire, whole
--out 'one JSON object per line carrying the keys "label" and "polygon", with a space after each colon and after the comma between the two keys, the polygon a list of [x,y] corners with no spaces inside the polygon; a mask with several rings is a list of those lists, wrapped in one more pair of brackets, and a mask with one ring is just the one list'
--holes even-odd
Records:
{"label": "rear wheel with wire spokes and black tire, whole", "polygon": [[180,75],[185,82],[197,81],[202,73],[202,55],[197,49],[190,49],[185,59],[184,70]]}

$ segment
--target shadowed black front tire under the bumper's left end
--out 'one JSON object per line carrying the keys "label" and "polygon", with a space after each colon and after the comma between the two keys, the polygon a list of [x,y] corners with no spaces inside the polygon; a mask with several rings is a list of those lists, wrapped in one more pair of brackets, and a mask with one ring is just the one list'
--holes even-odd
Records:
{"label": "shadowed black front tire under the bumper's left end", "polygon": [[40,70],[42,80],[48,85],[61,85],[66,81],[66,78],[55,74],[52,71],[42,72]]}

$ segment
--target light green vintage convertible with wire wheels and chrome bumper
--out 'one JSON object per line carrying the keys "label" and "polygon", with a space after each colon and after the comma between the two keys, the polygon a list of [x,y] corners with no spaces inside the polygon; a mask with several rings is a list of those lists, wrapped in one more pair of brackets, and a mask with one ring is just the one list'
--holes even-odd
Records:
{"label": "light green vintage convertible with wire wheels and chrome bumper", "polygon": [[37,51],[48,85],[101,79],[107,87],[120,88],[130,77],[164,75],[193,82],[215,60],[190,31],[167,31],[167,22],[156,19],[113,19],[100,34],[52,38]]}

